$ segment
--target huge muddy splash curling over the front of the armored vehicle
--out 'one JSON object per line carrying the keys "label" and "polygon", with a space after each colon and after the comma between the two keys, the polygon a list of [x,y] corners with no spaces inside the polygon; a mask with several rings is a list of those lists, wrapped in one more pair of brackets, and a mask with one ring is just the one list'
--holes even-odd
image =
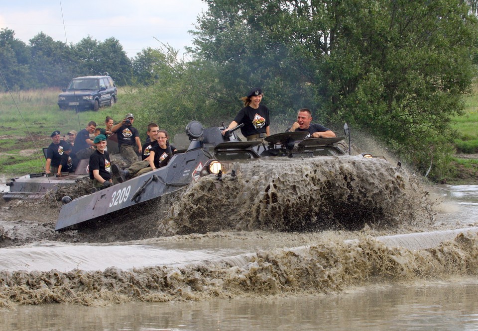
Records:
{"label": "huge muddy splash curling over the front of the armored vehicle", "polygon": [[237,178],[190,185],[160,222],[161,234],[237,230],[317,231],[427,223],[432,203],[418,178],[361,157],[257,161]]}

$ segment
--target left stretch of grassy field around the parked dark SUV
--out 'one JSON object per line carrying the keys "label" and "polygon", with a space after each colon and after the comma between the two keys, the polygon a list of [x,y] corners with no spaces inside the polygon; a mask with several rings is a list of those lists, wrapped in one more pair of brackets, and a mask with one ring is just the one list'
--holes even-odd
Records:
{"label": "left stretch of grassy field around the parked dark SUV", "polygon": [[95,121],[104,127],[106,116],[116,121],[124,118],[129,110],[119,104],[103,107],[99,111],[60,110],[56,104],[59,89],[38,89],[0,93],[0,173],[22,175],[41,172],[44,158],[41,149],[51,143],[50,134],[60,130],[66,135],[70,130],[80,131],[88,122]]}

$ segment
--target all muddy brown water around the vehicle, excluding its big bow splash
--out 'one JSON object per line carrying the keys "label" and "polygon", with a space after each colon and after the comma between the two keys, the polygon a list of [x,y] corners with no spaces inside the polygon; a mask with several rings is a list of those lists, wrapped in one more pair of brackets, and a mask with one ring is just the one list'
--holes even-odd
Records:
{"label": "all muddy brown water around the vehicle, excluding its big bow splash", "polygon": [[[437,195],[445,203],[431,229],[478,225],[478,186]],[[0,330],[478,329],[476,235],[414,250],[373,234],[223,231],[2,248]]]}

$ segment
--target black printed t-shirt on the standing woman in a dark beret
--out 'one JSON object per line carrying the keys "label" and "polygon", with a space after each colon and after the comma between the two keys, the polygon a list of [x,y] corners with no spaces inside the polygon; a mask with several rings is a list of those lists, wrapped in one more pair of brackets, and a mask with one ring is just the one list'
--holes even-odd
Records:
{"label": "black printed t-shirt on the standing woman in a dark beret", "polygon": [[265,128],[270,125],[269,109],[261,104],[257,109],[247,106],[239,111],[234,120],[238,124],[244,123],[244,126],[240,128],[244,137],[265,133]]}

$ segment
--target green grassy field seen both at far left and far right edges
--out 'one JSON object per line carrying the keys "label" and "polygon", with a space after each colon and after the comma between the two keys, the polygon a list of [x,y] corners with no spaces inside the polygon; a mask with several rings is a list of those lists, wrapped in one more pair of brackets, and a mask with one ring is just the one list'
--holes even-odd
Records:
{"label": "green grassy field seen both at far left and far right edges", "polygon": [[[7,176],[41,172],[44,169],[43,147],[51,143],[50,134],[60,130],[66,134],[69,130],[84,129],[89,121],[97,122],[104,127],[106,116],[121,120],[126,113],[138,112],[135,109],[134,94],[130,89],[119,89],[119,102],[113,107],[100,108],[99,111],[60,110],[56,104],[59,89],[39,89],[31,91],[0,93],[0,173]],[[129,102],[127,102],[129,100]],[[465,99],[465,114],[453,119],[452,126],[456,130],[453,143],[457,148],[457,157],[450,169],[449,183],[466,182],[470,178],[478,181],[478,91]],[[148,120],[149,122],[149,120]],[[141,139],[145,139],[147,122],[136,120]],[[467,158],[466,155],[474,155]],[[465,174],[467,174],[465,176]],[[445,178],[446,179],[446,178]]]}

